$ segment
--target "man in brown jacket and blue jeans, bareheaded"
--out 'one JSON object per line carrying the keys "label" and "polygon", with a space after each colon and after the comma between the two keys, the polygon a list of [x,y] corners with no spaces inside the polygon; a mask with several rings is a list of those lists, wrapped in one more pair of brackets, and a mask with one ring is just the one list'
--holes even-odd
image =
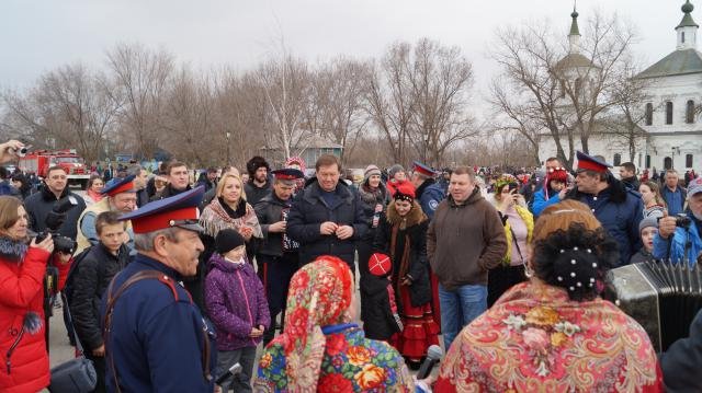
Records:
{"label": "man in brown jacket and blue jeans, bareheaded", "polygon": [[487,310],[487,273],[507,252],[497,209],[475,185],[475,172],[458,166],[451,174],[449,197],[427,231],[427,256],[439,278],[444,347],[463,326]]}

